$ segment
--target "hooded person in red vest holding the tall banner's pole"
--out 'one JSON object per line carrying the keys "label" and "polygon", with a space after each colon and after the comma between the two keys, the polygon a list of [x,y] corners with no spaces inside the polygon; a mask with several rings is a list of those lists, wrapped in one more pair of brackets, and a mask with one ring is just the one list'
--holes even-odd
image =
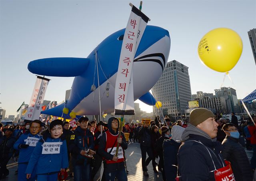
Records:
{"label": "hooded person in red vest holding the tall banner's pole", "polygon": [[[124,149],[127,149],[128,144],[126,142],[124,133],[119,134],[119,120],[116,117],[110,117],[108,119],[108,130],[102,134],[100,138],[98,153],[104,157],[104,173],[106,181],[114,181],[115,177],[120,181],[127,181],[127,174],[124,165]],[[117,143],[118,156],[116,156]]]}

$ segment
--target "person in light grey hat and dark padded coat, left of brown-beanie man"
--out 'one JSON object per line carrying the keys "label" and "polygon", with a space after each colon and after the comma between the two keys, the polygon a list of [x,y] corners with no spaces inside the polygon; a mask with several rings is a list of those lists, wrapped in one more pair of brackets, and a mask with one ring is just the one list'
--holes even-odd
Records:
{"label": "person in light grey hat and dark padded coat, left of brown-beanie man", "polygon": [[172,127],[172,138],[164,140],[163,155],[166,181],[174,181],[177,177],[177,154],[181,145],[181,135],[184,129],[184,127],[174,125]]}

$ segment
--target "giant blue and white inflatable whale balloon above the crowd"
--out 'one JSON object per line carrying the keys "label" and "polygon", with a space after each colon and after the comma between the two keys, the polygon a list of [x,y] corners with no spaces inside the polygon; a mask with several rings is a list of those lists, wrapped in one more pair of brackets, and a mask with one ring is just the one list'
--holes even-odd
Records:
{"label": "giant blue and white inflatable whale balloon above the crowd", "polygon": [[[98,55],[101,110],[104,113],[114,112],[116,72],[124,31],[122,29],[108,36],[87,58],[44,58],[30,62],[28,70],[33,74],[75,77],[66,105],[62,103],[41,113],[61,117],[62,109],[67,107],[69,113],[73,111],[76,115],[100,114],[95,52]],[[140,99],[148,105],[156,103],[149,90],[161,77],[169,52],[169,32],[157,26],[146,26],[134,57],[134,100]],[[62,117],[70,118],[69,113]]]}

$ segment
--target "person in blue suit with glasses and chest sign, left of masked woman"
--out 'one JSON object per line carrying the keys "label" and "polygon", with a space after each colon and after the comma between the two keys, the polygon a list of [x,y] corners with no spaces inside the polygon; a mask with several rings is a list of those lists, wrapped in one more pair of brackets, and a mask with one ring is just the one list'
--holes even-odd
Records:
{"label": "person in blue suit with glasses and chest sign, left of masked woman", "polygon": [[[22,134],[19,139],[14,143],[14,149],[20,151],[20,156],[18,159],[18,180],[19,181],[27,181],[26,178],[26,168],[28,166],[28,161],[36,144],[38,143],[41,136],[39,135],[39,131],[41,129],[41,121],[35,119],[30,123],[29,130]],[[29,139],[27,141],[27,139]],[[36,180],[36,170],[34,169],[31,173],[31,177],[29,181]]]}

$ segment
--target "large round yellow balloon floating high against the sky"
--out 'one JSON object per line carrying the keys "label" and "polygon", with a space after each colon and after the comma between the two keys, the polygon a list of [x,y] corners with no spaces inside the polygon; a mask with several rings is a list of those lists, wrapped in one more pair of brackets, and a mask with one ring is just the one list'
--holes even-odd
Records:
{"label": "large round yellow balloon floating high against the sky", "polygon": [[234,68],[242,50],[242,39],[229,28],[211,30],[198,44],[198,55],[204,65],[218,72],[228,72]]}

